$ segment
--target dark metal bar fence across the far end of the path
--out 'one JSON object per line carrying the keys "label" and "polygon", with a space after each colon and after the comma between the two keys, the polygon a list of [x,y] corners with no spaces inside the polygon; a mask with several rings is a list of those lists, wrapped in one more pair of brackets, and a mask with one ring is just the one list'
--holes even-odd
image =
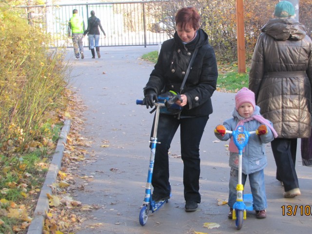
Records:
{"label": "dark metal bar fence across the far end of the path", "polygon": [[[166,1],[79,3],[59,5],[20,6],[24,18],[51,35],[51,47],[72,47],[67,37],[68,20],[73,9],[83,17],[87,27],[94,10],[101,20],[106,38],[100,33],[99,46],[157,45],[175,32],[174,19],[159,14]],[[84,46],[89,46],[87,37]]]}

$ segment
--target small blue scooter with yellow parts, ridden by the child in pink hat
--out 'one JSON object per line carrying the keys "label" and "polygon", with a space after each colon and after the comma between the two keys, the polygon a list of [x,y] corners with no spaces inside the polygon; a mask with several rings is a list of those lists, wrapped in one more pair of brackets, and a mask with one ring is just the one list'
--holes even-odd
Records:
{"label": "small blue scooter with yellow parts, ridden by the child in pink hat", "polygon": [[253,195],[243,195],[244,186],[242,185],[242,154],[244,147],[248,143],[249,136],[251,134],[256,134],[256,131],[247,132],[244,126],[240,125],[236,130],[226,130],[225,133],[232,134],[234,144],[238,148],[238,184],[236,186],[237,197],[236,202],[233,205],[232,219],[235,219],[236,228],[240,230],[243,225],[243,219],[246,219],[246,210],[254,210]]}

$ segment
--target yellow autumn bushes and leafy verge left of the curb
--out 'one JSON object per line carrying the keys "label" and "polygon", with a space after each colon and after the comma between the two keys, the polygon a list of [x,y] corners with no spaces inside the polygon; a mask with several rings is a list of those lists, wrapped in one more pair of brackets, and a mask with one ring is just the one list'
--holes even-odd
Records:
{"label": "yellow autumn bushes and leafy verge left of the curb", "polygon": [[[12,1],[15,2],[15,1]],[[0,233],[30,223],[66,104],[65,48],[49,49],[49,35],[0,4]]]}

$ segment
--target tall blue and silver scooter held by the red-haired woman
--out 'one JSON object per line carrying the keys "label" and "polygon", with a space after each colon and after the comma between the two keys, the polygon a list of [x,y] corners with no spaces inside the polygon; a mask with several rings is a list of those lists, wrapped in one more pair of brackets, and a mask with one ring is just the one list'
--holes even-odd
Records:
{"label": "tall blue and silver scooter held by the red-haired woman", "polygon": [[[145,198],[143,201],[143,206],[141,208],[139,214],[139,222],[142,226],[144,226],[147,222],[148,213],[152,211],[152,213],[156,212],[165,202],[168,202],[169,199],[164,199],[160,201],[154,201],[152,198],[151,187],[152,187],[152,176],[153,176],[153,169],[154,169],[154,159],[155,159],[155,152],[156,152],[156,144],[160,144],[161,142],[157,142],[157,128],[158,128],[158,119],[160,113],[160,107],[165,107],[165,103],[168,101],[168,98],[160,98],[158,97],[158,102],[155,102],[154,105],[156,106],[156,114],[155,114],[155,123],[154,123],[154,131],[153,136],[151,137],[151,156],[150,156],[150,165],[148,170],[147,182],[145,186]],[[137,100],[138,105],[145,105],[143,100]],[[178,105],[175,109],[180,108]],[[170,193],[170,197],[172,194]]]}

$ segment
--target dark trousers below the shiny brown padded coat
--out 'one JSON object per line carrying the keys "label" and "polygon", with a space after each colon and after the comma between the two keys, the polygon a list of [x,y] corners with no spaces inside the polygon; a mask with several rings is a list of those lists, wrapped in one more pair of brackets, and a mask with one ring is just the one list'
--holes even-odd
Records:
{"label": "dark trousers below the shiny brown padded coat", "polygon": [[271,147],[276,163],[276,179],[283,182],[285,192],[299,188],[295,170],[297,138],[276,138]]}

